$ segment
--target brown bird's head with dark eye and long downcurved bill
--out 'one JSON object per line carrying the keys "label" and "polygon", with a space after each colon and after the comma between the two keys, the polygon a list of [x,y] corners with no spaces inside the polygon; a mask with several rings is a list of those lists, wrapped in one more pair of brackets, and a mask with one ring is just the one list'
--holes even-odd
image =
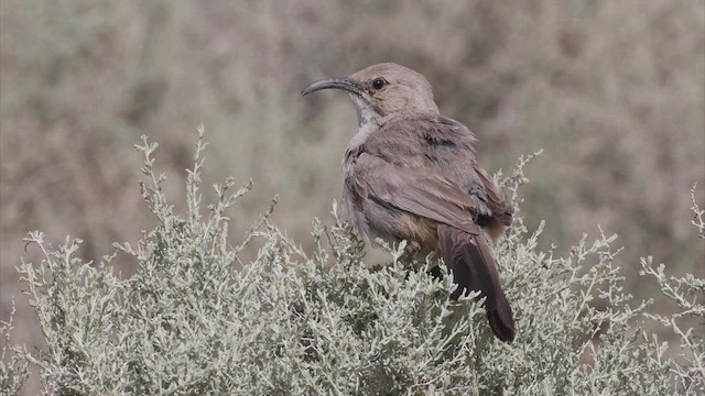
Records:
{"label": "brown bird's head with dark eye and long downcurved bill", "polygon": [[369,66],[348,77],[312,82],[301,95],[336,88],[348,92],[358,109],[360,124],[380,124],[388,117],[403,112],[437,114],[431,84],[410,68],[393,63]]}

